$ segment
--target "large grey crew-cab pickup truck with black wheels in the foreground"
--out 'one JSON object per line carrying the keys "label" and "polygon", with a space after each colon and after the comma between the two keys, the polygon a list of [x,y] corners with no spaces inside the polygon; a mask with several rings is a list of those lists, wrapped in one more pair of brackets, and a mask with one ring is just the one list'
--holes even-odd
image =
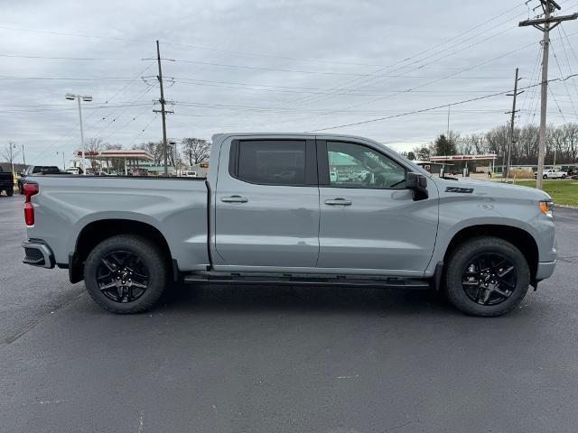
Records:
{"label": "large grey crew-cab pickup truck with black wheels in the foreground", "polygon": [[[435,178],[368,139],[217,134],[203,178],[41,176],[24,184],[24,263],[68,268],[105,309],[170,281],[443,290],[498,316],[549,277],[552,200]],[[363,176],[331,176],[353,170]]]}

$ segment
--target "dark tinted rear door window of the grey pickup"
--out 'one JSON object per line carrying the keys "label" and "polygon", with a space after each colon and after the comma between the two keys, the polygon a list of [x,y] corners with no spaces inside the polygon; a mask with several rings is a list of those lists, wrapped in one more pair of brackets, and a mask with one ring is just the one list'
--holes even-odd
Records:
{"label": "dark tinted rear door window of the grey pickup", "polygon": [[305,141],[241,141],[238,146],[238,179],[267,185],[305,184]]}

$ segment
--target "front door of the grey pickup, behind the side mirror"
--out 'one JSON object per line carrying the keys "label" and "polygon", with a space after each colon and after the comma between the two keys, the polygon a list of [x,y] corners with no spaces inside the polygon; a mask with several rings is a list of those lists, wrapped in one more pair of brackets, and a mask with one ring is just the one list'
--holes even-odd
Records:
{"label": "front door of the grey pickup, behind the side mirror", "polygon": [[318,141],[319,268],[420,275],[432,257],[437,190],[414,201],[406,168],[385,150]]}

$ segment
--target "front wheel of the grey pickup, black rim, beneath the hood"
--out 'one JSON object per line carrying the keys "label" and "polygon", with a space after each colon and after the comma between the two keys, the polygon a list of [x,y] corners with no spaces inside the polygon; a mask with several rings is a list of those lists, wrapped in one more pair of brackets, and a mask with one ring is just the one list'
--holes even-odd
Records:
{"label": "front wheel of the grey pickup, black rim, beneath the hood", "polygon": [[448,299],[471,316],[500,316],[515,309],[529,285],[526,257],[497,237],[464,241],[450,254],[445,270]]}

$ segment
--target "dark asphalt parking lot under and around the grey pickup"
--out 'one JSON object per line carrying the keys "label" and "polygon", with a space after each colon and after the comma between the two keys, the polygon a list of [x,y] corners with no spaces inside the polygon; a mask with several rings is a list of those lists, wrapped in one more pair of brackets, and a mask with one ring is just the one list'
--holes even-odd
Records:
{"label": "dark asphalt parking lot under and around the grey pickup", "polygon": [[578,210],[555,275],[501,318],[430,292],[174,288],[98,308],[21,263],[23,200],[0,197],[0,431],[573,432]]}

